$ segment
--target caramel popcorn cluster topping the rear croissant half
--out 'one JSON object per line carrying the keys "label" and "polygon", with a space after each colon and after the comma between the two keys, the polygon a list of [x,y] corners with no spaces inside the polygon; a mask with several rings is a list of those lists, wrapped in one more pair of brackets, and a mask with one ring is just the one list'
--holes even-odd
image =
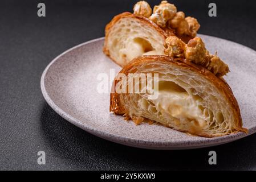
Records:
{"label": "caramel popcorn cluster topping the rear croissant half", "polygon": [[167,1],[162,1],[159,6],[155,6],[152,9],[149,4],[145,1],[137,2],[133,7],[134,14],[141,15],[152,20],[161,28],[172,28],[176,30],[176,34],[196,36],[200,24],[197,22],[196,18],[190,16],[185,18],[185,14],[182,11],[177,12],[176,6],[168,3]]}

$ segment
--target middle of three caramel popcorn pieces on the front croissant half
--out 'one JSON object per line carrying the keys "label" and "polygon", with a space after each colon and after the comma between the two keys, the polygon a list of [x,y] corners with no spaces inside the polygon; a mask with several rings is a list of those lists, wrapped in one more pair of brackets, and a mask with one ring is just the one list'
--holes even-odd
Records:
{"label": "middle of three caramel popcorn pieces on the front croissant half", "polygon": [[193,63],[200,64],[202,66],[208,63],[206,59],[206,48],[201,38],[194,38],[189,40],[186,45],[185,57],[187,60]]}

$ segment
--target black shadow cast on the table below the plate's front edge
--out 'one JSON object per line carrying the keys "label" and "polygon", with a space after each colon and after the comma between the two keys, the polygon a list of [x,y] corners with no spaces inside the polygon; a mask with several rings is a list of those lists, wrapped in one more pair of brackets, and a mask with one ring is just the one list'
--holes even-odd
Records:
{"label": "black shadow cast on the table below the plate's front edge", "polygon": [[[45,142],[74,169],[181,170],[255,169],[256,134],[221,146],[180,151],[145,150],[95,137],[60,117],[48,104],[40,116]],[[217,152],[217,165],[208,152]]]}

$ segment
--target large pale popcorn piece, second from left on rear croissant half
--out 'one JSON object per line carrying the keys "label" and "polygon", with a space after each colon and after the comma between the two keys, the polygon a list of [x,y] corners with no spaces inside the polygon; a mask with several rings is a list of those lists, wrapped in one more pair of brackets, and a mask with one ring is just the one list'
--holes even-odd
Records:
{"label": "large pale popcorn piece, second from left on rear croissant half", "polygon": [[149,19],[160,27],[164,28],[167,21],[172,19],[176,13],[176,6],[168,3],[167,1],[162,1],[159,6],[154,7],[153,14],[149,17]]}

